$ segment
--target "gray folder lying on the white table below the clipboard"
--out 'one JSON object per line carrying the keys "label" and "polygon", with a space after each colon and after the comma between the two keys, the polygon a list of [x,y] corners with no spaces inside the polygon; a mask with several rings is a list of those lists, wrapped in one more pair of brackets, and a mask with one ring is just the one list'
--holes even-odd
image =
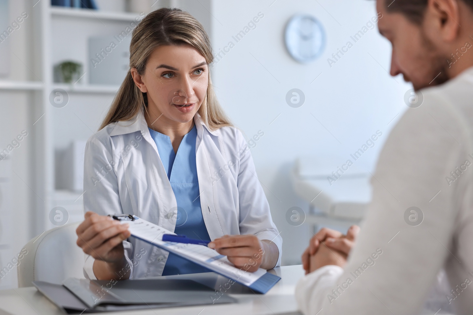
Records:
{"label": "gray folder lying on the white table below the clipboard", "polygon": [[185,279],[138,279],[116,283],[69,278],[63,285],[33,281],[33,285],[68,314],[234,303],[235,298]]}

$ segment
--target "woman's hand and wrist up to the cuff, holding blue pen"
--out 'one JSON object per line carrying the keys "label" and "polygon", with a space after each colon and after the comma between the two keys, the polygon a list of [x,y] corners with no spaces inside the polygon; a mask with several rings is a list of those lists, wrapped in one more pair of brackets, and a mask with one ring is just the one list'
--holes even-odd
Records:
{"label": "woman's hand and wrist up to the cuff, holding blue pen", "polygon": [[279,257],[276,244],[260,240],[255,235],[224,235],[209,243],[219,254],[226,255],[236,268],[255,272],[258,268],[272,269]]}

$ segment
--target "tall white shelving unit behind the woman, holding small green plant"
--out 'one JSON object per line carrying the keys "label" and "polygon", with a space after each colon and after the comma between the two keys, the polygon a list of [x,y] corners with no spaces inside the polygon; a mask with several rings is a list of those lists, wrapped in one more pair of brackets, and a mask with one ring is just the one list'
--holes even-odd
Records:
{"label": "tall white shelving unit behind the woman, holding small green plant", "polygon": [[[37,136],[34,169],[35,192],[43,200],[34,198],[36,226],[34,235],[54,227],[49,212],[61,206],[69,214],[68,223],[83,218],[81,192],[69,192],[60,187],[57,180],[58,163],[62,152],[71,141],[87,140],[100,126],[118,85],[92,85],[88,77],[88,37],[120,34],[139,13],[105,12],[92,9],[62,8],[51,6],[51,1],[41,1],[33,9],[37,41],[35,50],[40,52],[36,65],[44,83],[0,82],[4,89],[28,89],[41,95],[34,117],[44,117],[35,124]],[[131,36],[128,35],[128,36]],[[84,72],[75,84],[53,82],[53,67],[63,60],[75,60],[82,64]],[[39,74],[38,74],[39,75]],[[50,104],[50,94],[55,89],[66,91],[69,102],[63,108]]]}

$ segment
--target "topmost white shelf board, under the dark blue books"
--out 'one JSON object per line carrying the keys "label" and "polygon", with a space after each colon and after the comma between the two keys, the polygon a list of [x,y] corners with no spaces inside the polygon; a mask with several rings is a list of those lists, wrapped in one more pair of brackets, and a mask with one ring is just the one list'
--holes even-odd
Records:
{"label": "topmost white shelf board, under the dark blue books", "polygon": [[93,9],[61,8],[56,6],[52,6],[50,12],[53,17],[95,18],[99,20],[105,19],[126,22],[134,21],[136,17],[140,16],[140,13],[134,12],[107,12]]}

